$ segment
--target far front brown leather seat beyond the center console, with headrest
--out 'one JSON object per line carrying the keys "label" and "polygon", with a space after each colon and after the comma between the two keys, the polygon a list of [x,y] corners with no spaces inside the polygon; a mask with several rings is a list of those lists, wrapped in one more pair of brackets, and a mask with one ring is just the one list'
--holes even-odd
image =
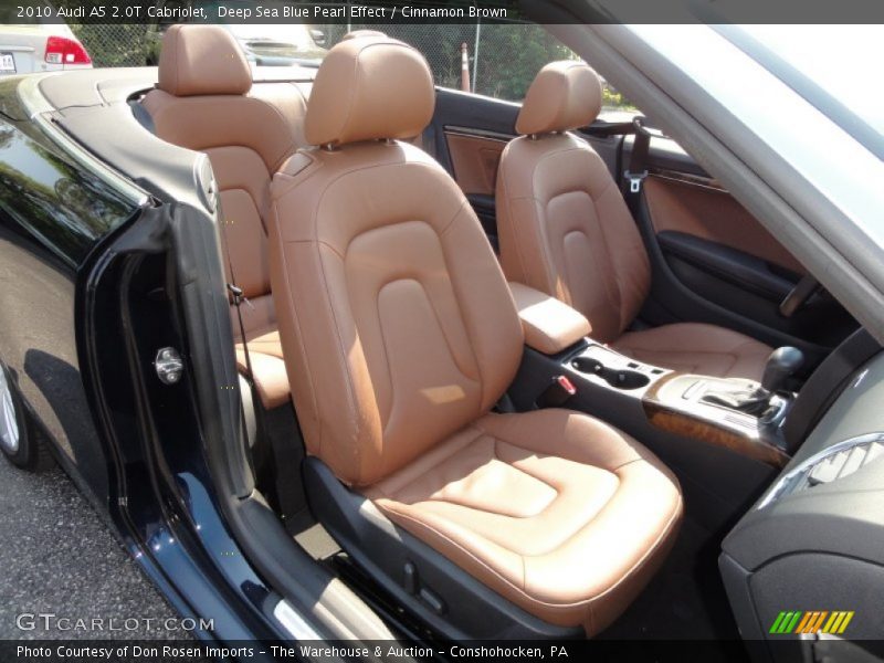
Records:
{"label": "far front brown leather seat beyond the center console, with headrest", "polygon": [[537,74],[501,157],[497,232],[512,281],[582,313],[592,338],[664,368],[761,379],[768,346],[712,325],[681,323],[625,333],[651,285],[638,228],[608,168],[570,129],[601,109],[589,66],[554,62]]}

